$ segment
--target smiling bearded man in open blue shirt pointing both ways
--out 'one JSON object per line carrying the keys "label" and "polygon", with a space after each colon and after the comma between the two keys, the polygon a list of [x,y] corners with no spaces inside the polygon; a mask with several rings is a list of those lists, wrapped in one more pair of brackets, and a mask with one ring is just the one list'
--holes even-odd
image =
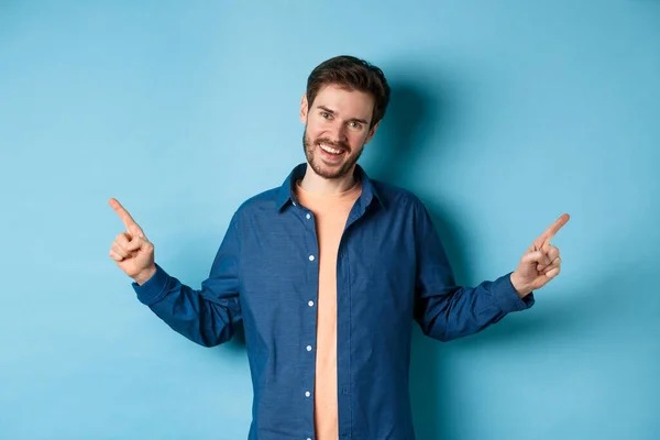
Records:
{"label": "smiling bearded man in open blue shirt pointing both ways", "polygon": [[142,302],[207,346],[244,326],[251,440],[414,439],[413,321],[442,341],[475,333],[531,307],[532,290],[560,272],[550,240],[568,215],[516,271],[457,286],[420,200],[356,164],[388,100],[383,73],[364,61],[314,69],[300,106],[307,163],[234,212],[200,290],[156,265],[153,244],[110,200],[127,227],[110,256]]}

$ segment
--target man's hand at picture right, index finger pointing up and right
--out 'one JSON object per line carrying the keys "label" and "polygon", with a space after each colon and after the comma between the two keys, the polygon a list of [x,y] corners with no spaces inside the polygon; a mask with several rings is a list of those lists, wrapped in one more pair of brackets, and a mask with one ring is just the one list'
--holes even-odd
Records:
{"label": "man's hand at picture right, index finger pointing up and right", "polygon": [[520,258],[518,268],[512,273],[512,284],[520,298],[543,287],[559,275],[561,258],[559,249],[550,244],[550,240],[569,221],[564,213],[550,228],[539,235]]}

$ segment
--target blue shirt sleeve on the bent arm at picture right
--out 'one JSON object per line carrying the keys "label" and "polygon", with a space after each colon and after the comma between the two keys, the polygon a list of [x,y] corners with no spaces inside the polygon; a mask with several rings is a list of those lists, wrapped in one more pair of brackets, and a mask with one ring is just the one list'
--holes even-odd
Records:
{"label": "blue shirt sleeve on the bent arm at picture right", "polygon": [[476,333],[507,314],[530,308],[534,294],[520,298],[510,272],[476,287],[457,286],[450,263],[426,207],[415,210],[417,279],[415,320],[425,334],[440,341]]}

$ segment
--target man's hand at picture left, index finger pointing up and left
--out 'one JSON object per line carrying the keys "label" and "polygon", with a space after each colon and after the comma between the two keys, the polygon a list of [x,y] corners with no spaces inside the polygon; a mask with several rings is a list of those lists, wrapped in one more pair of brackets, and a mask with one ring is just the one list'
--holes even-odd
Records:
{"label": "man's hand at picture left, index finger pointing up and left", "polygon": [[114,239],[110,248],[110,257],[128,276],[142,285],[156,273],[154,245],[117,199],[110,199],[109,204],[127,228],[125,232],[121,232]]}

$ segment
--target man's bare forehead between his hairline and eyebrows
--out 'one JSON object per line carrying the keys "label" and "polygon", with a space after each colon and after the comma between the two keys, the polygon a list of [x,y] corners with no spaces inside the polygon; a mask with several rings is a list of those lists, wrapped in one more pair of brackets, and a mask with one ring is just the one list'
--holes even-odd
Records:
{"label": "man's bare forehead between his hairline and eyebrows", "polygon": [[337,85],[328,85],[319,90],[314,107],[327,107],[342,118],[371,120],[374,111],[374,98],[371,94],[351,90]]}

